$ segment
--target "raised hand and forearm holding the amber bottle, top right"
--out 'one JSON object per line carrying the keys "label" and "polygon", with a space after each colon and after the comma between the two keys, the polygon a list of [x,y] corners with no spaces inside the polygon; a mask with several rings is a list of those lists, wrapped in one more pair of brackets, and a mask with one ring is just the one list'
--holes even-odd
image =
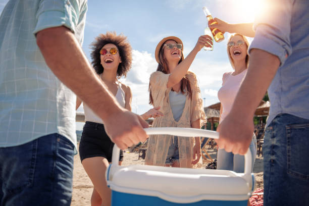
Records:
{"label": "raised hand and forearm holding the amber bottle, top right", "polygon": [[239,33],[248,37],[254,37],[255,35],[255,31],[253,30],[253,22],[242,24],[229,24],[218,18],[215,18],[215,20],[218,22],[218,24],[209,25],[209,28],[218,28],[222,32]]}

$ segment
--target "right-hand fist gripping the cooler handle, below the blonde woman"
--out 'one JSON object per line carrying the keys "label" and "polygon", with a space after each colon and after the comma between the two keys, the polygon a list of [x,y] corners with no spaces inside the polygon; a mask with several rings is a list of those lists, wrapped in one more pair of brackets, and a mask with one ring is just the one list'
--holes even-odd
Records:
{"label": "right-hand fist gripping the cooler handle, below the blonde woman", "polygon": [[229,114],[218,126],[219,139],[215,141],[220,149],[244,155],[249,148],[253,129],[252,119],[245,120]]}

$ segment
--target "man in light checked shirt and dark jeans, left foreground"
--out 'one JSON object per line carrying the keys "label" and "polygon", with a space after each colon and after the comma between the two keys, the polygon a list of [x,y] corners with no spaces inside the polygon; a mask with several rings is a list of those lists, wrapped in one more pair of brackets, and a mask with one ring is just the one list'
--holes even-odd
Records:
{"label": "man in light checked shirt and dark jeans, left foreground", "polygon": [[82,51],[86,11],[85,0],[10,0],[0,16],[1,205],[71,204],[75,94],[121,149],[147,138]]}

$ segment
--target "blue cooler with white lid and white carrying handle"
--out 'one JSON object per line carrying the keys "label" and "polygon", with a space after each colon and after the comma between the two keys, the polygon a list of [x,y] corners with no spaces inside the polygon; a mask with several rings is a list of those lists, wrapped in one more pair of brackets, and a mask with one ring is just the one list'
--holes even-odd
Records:
{"label": "blue cooler with white lid and white carrying handle", "polygon": [[[210,130],[193,128],[147,128],[147,134],[219,138]],[[245,173],[228,170],[169,168],[148,165],[119,166],[119,148],[106,172],[112,205],[247,205],[253,191],[251,153],[245,155]]]}

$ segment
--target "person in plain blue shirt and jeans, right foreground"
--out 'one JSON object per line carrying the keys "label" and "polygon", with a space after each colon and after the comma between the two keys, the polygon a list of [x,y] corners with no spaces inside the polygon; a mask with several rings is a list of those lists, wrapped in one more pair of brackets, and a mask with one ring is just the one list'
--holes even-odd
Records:
{"label": "person in plain blue shirt and jeans, right foreground", "polygon": [[309,2],[267,1],[255,17],[249,67],[229,115],[220,148],[243,155],[253,115],[270,98],[263,144],[264,205],[309,205]]}

